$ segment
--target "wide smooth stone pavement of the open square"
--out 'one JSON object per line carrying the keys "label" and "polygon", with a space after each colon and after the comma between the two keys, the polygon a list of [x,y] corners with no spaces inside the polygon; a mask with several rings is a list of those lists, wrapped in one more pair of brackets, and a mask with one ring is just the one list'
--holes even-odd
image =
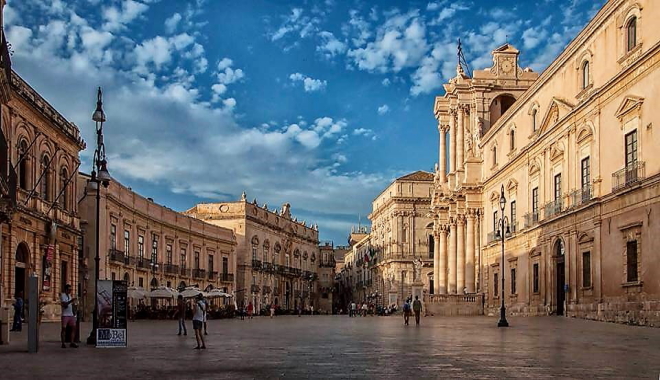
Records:
{"label": "wide smooth stone pavement of the open square", "polygon": [[660,329],[563,317],[509,322],[498,329],[488,317],[423,318],[420,327],[396,316],[215,320],[206,351],[193,350],[191,331],[177,336],[176,321],[131,323],[126,349],[62,349],[58,326],[44,324],[39,353],[25,352],[25,333],[0,347],[0,379],[659,378]]}

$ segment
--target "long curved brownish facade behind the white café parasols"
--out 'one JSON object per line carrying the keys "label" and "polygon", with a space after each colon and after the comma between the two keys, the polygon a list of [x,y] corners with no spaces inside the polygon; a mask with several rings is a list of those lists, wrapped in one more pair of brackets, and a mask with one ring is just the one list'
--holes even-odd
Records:
{"label": "long curved brownish facade behind the white caf\u00e9 parasols", "polygon": [[[94,309],[96,189],[78,176],[84,315]],[[125,280],[146,289],[235,290],[236,238],[232,230],[159,205],[113,180],[100,194],[99,279]]]}

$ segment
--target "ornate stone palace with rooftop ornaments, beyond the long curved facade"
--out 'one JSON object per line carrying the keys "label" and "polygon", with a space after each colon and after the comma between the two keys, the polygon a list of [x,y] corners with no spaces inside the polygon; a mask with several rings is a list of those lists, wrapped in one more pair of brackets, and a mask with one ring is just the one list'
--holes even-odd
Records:
{"label": "ornate stone palace with rooftop ornaments, beyond the long curved facade", "polygon": [[[274,303],[282,310],[319,308],[319,232],[279,210],[241,200],[203,203],[185,214],[232,229],[236,234],[236,299],[257,312]],[[328,263],[329,264],[329,263]]]}

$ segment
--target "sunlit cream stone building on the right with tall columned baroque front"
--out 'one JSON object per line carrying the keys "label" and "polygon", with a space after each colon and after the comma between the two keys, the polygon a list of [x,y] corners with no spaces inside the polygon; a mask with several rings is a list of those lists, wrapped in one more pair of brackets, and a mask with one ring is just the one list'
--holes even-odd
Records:
{"label": "sunlit cream stone building on the right with tall columned baroque front", "polygon": [[434,106],[436,294],[660,323],[656,17],[657,2],[608,1],[541,75],[508,44],[472,76],[459,65]]}

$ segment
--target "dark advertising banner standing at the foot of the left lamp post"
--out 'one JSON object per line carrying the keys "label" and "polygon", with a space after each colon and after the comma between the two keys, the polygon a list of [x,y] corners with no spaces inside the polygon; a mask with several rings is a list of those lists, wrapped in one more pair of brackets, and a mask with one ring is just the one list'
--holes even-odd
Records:
{"label": "dark advertising banner standing at the foot of the left lamp post", "polygon": [[96,285],[99,327],[96,330],[96,347],[126,347],[128,284],[123,280],[100,280]]}

